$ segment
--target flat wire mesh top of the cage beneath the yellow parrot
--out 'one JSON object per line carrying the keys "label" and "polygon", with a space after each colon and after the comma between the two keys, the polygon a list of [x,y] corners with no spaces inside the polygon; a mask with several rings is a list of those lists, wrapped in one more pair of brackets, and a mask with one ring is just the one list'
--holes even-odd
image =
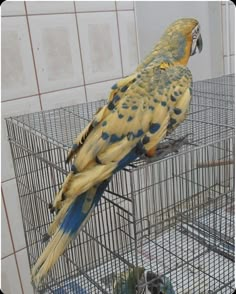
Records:
{"label": "flat wire mesh top of the cage beneath the yellow parrot", "polygon": [[[234,129],[234,79],[231,74],[194,82],[189,115],[171,137],[178,138],[191,133],[193,148],[231,134]],[[6,120],[7,125],[27,128],[37,136],[67,149],[97,109],[105,104],[106,100],[99,100]]]}

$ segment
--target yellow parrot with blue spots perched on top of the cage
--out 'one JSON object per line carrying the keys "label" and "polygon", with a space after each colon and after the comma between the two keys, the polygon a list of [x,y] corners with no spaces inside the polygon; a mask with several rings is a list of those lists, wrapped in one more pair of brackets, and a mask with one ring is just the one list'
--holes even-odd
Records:
{"label": "yellow parrot with blue spots perched on top of the cage", "polygon": [[107,103],[75,138],[66,160],[70,172],[49,205],[56,214],[43,237],[47,244],[31,270],[35,287],[84,228],[112,176],[144,154],[154,156],[184,121],[192,96],[187,63],[202,47],[196,19],[174,21],[136,70],[111,87]]}

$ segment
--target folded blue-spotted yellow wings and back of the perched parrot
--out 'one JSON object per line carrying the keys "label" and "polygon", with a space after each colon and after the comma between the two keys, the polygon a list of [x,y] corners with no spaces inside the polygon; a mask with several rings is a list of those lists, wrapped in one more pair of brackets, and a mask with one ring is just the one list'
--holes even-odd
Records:
{"label": "folded blue-spotted yellow wings and back of the perched parrot", "polygon": [[[140,153],[153,156],[168,128],[175,127],[186,115],[190,77],[190,71],[183,66],[164,70],[150,67],[125,92],[116,94],[95,116],[93,129],[77,151],[54,207],[60,209],[66,203],[69,206],[75,197],[109,178]],[[180,107],[183,116],[176,111]],[[141,152],[134,151],[137,144]],[[62,203],[65,198],[69,201]]]}

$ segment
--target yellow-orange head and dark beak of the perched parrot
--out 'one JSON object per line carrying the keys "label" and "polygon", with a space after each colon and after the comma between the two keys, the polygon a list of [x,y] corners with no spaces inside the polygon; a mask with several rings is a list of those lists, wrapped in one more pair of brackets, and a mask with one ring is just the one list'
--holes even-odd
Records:
{"label": "yellow-orange head and dark beak of the perched parrot", "polygon": [[203,43],[200,32],[200,24],[194,18],[181,18],[173,22],[165,31],[172,48],[175,59],[186,64],[190,56],[202,51]]}

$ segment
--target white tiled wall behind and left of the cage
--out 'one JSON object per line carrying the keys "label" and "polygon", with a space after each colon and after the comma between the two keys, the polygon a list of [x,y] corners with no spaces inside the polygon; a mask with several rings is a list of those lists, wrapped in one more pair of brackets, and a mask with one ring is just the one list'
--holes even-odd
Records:
{"label": "white tiled wall behind and left of the cage", "polygon": [[[135,65],[133,2],[6,1],[1,7],[2,187],[6,200],[6,211],[2,206],[3,290],[7,294],[21,294],[21,281],[23,293],[31,294],[4,118],[40,111],[41,107],[44,110],[106,99],[111,86]],[[122,10],[119,21],[118,10]]]}

